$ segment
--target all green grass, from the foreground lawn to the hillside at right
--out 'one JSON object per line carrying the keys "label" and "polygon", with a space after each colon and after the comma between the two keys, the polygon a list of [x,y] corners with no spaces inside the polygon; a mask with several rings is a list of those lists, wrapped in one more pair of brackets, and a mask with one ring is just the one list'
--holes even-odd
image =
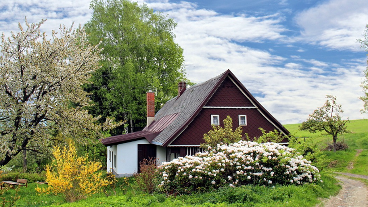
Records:
{"label": "all green grass, from the foreground lawn to the hillside at right", "polygon": [[[332,143],[331,136],[321,133],[311,134],[308,131],[299,131],[298,125],[288,124],[285,127],[298,138],[301,144],[308,144],[323,149],[328,143]],[[360,175],[368,175],[368,120],[351,120],[348,129],[352,132],[340,135],[337,141],[343,141],[349,148],[347,150],[320,151],[316,156],[323,157],[326,167],[321,171],[323,183],[275,186],[253,186],[222,187],[211,192],[191,194],[178,194],[166,196],[162,193],[146,194],[141,192],[134,178],[119,179],[116,195],[112,193],[107,197],[105,193],[93,194],[86,199],[75,203],[65,203],[57,196],[38,194],[36,186],[45,187],[38,183],[29,183],[28,187],[21,187],[20,199],[16,206],[38,207],[38,206],[152,206],[152,207],[236,207],[236,206],[316,206],[320,198],[326,198],[336,194],[340,186],[333,178],[333,172],[350,172]],[[304,141],[305,140],[305,141]],[[128,180],[128,181],[127,181]],[[9,190],[5,197],[14,194]]]}

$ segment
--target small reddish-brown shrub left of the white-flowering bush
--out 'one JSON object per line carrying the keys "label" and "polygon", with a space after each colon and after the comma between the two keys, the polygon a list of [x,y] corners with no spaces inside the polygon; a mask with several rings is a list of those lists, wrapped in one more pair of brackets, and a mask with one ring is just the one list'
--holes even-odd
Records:
{"label": "small reddish-brown shrub left of the white-flowering bush", "polygon": [[141,173],[134,174],[135,181],[137,182],[138,188],[146,193],[153,193],[157,186],[156,179],[156,159],[149,158],[143,159],[139,163]]}

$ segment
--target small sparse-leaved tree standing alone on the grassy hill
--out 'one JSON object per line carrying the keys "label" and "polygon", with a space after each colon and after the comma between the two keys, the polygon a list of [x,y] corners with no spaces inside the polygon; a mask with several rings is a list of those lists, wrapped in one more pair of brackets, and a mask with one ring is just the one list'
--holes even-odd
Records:
{"label": "small sparse-leaved tree standing alone on the grassy hill", "polygon": [[309,115],[307,121],[301,124],[300,130],[311,133],[321,131],[322,134],[332,135],[333,151],[336,152],[337,135],[350,132],[346,126],[349,119],[341,120],[340,113],[344,111],[341,109],[341,105],[337,104],[336,97],[326,95],[326,98],[325,104]]}

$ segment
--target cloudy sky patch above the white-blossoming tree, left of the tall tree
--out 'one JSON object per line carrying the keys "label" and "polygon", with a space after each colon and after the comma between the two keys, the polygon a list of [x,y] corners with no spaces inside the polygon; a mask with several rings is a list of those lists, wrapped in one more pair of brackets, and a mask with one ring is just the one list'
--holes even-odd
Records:
{"label": "cloudy sky patch above the white-blossoming tree, left of the tall tree", "polygon": [[58,30],[59,25],[70,27],[72,22],[84,24],[90,19],[92,10],[89,9],[90,0],[12,0],[0,2],[0,28],[6,36],[10,31],[18,31],[18,22],[24,26],[24,18],[29,23],[38,23],[42,19],[47,21],[41,31],[51,34]]}

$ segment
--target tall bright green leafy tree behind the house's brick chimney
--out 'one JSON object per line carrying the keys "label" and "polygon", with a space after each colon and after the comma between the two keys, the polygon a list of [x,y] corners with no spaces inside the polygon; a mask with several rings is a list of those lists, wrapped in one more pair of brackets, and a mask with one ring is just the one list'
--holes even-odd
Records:
{"label": "tall bright green leafy tree behind the house's brick chimney", "polygon": [[146,92],[156,92],[158,110],[177,95],[177,83],[186,80],[183,50],[172,32],[176,23],[128,0],[93,0],[91,8],[86,31],[92,44],[102,41],[104,59],[93,84],[85,87],[95,102],[90,111],[102,119],[127,120],[130,131],[141,129],[146,125]]}

